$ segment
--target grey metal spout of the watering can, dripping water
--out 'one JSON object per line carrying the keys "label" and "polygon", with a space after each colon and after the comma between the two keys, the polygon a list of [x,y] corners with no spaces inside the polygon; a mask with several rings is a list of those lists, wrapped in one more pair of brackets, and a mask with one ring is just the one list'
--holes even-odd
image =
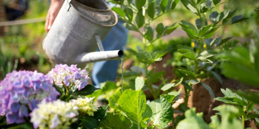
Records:
{"label": "grey metal spout of the watering can, dripping water", "polygon": [[97,61],[107,61],[116,58],[122,58],[124,52],[122,50],[100,51],[100,52],[85,52],[77,56],[74,62],[76,64],[87,64]]}

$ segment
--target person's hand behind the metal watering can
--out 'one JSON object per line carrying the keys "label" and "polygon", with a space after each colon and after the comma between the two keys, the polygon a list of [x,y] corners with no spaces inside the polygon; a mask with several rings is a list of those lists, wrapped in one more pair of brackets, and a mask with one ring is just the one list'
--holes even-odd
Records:
{"label": "person's hand behind the metal watering can", "polygon": [[51,0],[51,5],[46,16],[45,30],[48,33],[57,14],[62,7],[65,0]]}

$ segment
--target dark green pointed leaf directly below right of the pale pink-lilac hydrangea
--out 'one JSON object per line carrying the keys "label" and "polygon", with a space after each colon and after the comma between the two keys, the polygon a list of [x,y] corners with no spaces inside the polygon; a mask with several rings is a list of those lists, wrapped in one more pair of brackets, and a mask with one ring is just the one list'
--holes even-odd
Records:
{"label": "dark green pointed leaf directly below right of the pale pink-lilac hydrangea", "polygon": [[91,84],[86,85],[83,89],[78,90],[76,89],[71,95],[74,96],[87,96],[92,94],[94,91],[98,90],[100,88],[96,88]]}

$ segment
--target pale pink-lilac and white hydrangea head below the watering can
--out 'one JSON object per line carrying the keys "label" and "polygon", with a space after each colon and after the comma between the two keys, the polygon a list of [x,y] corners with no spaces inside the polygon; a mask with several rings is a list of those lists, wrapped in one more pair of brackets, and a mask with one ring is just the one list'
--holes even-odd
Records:
{"label": "pale pink-lilac and white hydrangea head below the watering can", "polygon": [[67,64],[56,65],[55,68],[51,69],[48,72],[47,77],[53,80],[57,85],[66,85],[73,83],[77,86],[78,90],[83,89],[90,80],[86,70],[81,70],[76,67],[77,65],[71,65],[70,67]]}

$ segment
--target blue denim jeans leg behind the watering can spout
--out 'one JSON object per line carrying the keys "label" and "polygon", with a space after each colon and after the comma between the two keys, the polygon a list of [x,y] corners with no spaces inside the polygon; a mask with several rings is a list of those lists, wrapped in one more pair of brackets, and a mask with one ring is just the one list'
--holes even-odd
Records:
{"label": "blue denim jeans leg behind the watering can spout", "polygon": [[[128,30],[123,27],[123,21],[112,27],[106,38],[103,40],[104,51],[122,50],[126,45]],[[99,49],[97,51],[100,51]],[[92,82],[95,87],[100,88],[100,83],[107,80],[114,81],[120,60],[100,61],[94,63],[92,71]]]}

